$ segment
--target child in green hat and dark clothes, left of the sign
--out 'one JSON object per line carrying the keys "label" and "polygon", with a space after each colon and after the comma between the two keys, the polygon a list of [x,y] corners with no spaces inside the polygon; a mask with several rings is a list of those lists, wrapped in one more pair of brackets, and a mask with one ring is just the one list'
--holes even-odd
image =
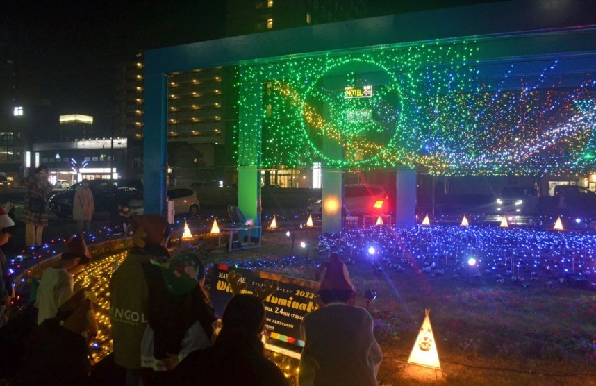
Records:
{"label": "child in green hat and dark clothes, left of the sign", "polygon": [[141,342],[143,383],[165,385],[192,351],[211,345],[217,318],[204,291],[205,267],[190,252],[165,265],[143,266],[149,284],[149,326]]}

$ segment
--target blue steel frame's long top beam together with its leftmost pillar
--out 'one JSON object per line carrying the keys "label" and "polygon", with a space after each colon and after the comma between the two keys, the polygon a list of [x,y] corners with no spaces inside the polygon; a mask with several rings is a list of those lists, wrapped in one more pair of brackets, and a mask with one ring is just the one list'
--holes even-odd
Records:
{"label": "blue steel frame's long top beam together with its leftmost pillar", "polygon": [[[145,53],[144,207],[165,210],[167,74],[313,52],[459,37],[519,36],[519,44],[483,50],[491,59],[548,53],[596,53],[590,1],[503,1],[477,6],[358,19],[229,37]],[[242,166],[242,165],[239,165]],[[240,190],[241,187],[239,187]]]}

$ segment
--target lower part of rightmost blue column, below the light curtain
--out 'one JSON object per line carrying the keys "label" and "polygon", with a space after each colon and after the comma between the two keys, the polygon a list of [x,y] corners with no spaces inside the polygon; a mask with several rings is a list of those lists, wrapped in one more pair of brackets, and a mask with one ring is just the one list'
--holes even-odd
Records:
{"label": "lower part of rightmost blue column, below the light curtain", "polygon": [[395,226],[416,225],[416,171],[398,168],[395,178]]}

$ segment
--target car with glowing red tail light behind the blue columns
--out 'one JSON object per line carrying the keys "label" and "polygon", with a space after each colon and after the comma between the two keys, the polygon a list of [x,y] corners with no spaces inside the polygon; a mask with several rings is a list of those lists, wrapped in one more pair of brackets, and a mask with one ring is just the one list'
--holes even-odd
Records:
{"label": "car with glowing red tail light behind the blue columns", "polygon": [[[343,208],[346,215],[376,215],[388,212],[389,196],[379,185],[345,185]],[[322,199],[313,200],[308,210],[322,212]]]}

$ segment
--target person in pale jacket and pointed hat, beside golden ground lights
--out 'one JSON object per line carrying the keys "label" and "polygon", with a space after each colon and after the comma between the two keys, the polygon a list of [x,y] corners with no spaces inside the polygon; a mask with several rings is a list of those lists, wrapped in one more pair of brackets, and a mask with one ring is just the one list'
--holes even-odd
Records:
{"label": "person in pale jacket and pointed hat, beside golden ground lights", "polygon": [[38,324],[56,316],[58,307],[73,294],[72,276],[90,261],[91,253],[83,236],[73,235],[70,237],[60,258],[54,259],[50,267],[47,267],[42,274],[35,298],[38,307]]}

